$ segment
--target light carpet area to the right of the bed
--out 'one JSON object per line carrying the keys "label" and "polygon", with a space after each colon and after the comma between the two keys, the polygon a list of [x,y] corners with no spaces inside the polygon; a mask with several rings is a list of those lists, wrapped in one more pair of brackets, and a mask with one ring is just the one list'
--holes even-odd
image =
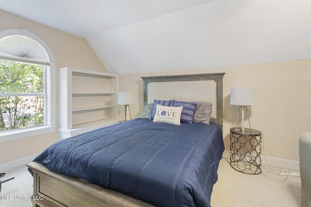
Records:
{"label": "light carpet area to the right of the bed", "polygon": [[[300,177],[277,173],[299,172],[262,166],[259,175],[247,175],[231,168],[228,159],[222,159],[218,181],[213,187],[212,207],[299,207]],[[269,171],[269,172],[267,172]]]}

